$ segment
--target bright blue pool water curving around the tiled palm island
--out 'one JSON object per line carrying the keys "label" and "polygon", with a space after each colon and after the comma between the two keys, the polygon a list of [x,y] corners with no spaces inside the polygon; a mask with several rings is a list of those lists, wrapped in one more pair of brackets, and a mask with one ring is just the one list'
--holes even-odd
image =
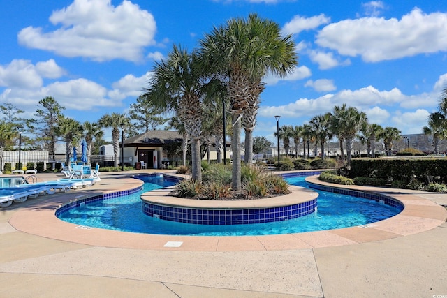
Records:
{"label": "bright blue pool water curving around the tiled palm island", "polygon": [[[141,193],[99,200],[82,207],[68,209],[58,217],[63,221],[94,228],[138,232],[198,236],[241,236],[289,234],[332,230],[381,221],[400,212],[400,209],[379,204],[374,200],[318,191],[318,210],[314,214],[274,223],[250,225],[193,225],[162,221],[142,213],[140,195],[147,191],[173,185],[163,177],[149,176]],[[287,178],[289,184],[307,187],[305,177]]]}

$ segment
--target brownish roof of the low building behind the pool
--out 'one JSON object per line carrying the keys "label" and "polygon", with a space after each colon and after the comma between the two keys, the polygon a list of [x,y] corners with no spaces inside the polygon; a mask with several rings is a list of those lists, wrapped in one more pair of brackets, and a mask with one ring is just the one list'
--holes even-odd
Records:
{"label": "brownish roof of the low building behind the pool", "polygon": [[182,142],[183,138],[177,131],[147,131],[140,135],[134,135],[129,139],[124,140],[124,145],[130,147],[131,145],[139,146],[161,146],[175,142]]}

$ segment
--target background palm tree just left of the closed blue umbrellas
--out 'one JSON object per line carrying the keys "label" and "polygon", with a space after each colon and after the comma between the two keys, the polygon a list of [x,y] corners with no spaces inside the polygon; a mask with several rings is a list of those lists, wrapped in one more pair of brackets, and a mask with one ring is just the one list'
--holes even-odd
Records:
{"label": "background palm tree just left of the closed blue umbrellas", "polygon": [[59,137],[64,137],[66,163],[69,164],[72,149],[78,144],[82,136],[82,125],[80,121],[75,119],[61,117],[54,131]]}

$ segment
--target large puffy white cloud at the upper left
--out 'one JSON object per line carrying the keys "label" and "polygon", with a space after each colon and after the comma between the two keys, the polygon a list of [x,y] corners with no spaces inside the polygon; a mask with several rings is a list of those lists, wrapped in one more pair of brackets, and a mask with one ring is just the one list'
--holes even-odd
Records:
{"label": "large puffy white cloud at the upper left", "polygon": [[116,7],[110,0],[74,0],[54,11],[50,22],[61,27],[48,33],[41,27],[24,28],[18,34],[19,43],[94,61],[139,61],[143,47],[155,44],[154,17],[128,0]]}

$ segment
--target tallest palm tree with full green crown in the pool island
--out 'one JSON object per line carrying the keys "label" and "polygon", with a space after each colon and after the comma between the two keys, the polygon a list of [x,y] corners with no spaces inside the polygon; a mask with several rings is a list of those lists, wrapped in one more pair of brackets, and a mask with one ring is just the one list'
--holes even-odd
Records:
{"label": "tallest palm tree with full green crown in the pool island", "polygon": [[232,188],[240,191],[241,118],[258,98],[254,85],[261,84],[262,77],[267,73],[284,76],[293,70],[297,64],[294,42],[291,35],[281,36],[277,23],[251,14],[248,20],[231,19],[225,26],[214,27],[200,40],[200,54],[202,68],[219,73],[227,82],[233,114]]}

